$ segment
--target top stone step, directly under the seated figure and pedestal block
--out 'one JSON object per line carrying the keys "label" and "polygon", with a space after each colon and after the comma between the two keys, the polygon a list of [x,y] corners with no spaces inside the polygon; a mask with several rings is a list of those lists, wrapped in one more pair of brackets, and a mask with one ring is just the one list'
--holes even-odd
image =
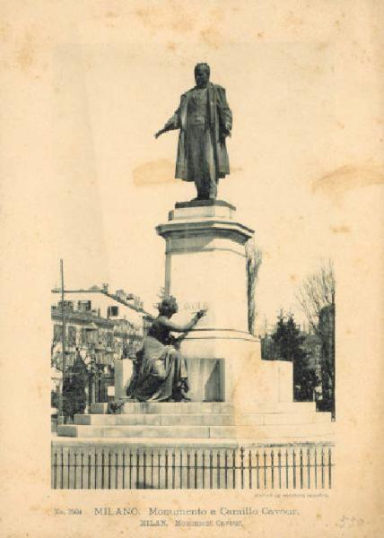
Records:
{"label": "top stone step, directly under the seated figure and pedestal block", "polygon": [[[92,414],[107,413],[108,404],[91,404]],[[254,404],[249,412],[315,412],[316,404],[314,402],[260,402]],[[169,403],[150,403],[150,402],[129,402],[124,404],[122,413],[124,414],[231,414],[236,412],[236,405],[229,402],[169,402]]]}

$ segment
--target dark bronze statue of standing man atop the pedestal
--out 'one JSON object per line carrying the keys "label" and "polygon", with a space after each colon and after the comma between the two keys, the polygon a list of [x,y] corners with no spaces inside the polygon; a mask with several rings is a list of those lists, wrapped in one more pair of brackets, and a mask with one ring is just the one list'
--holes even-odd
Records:
{"label": "dark bronze statue of standing man atop the pedestal", "polygon": [[209,65],[196,65],[196,86],[183,93],[175,114],[155,134],[179,129],[175,178],[195,182],[195,200],[215,199],[219,178],[230,173],[225,138],[231,134],[231,109],[224,88],[209,76]]}

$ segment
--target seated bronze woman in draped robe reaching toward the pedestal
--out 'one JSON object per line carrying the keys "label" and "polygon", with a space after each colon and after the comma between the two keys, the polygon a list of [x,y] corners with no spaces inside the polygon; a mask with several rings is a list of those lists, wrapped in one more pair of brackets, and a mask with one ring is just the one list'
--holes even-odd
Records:
{"label": "seated bronze woman in draped robe reaching toward the pedestal", "polygon": [[[206,310],[199,310],[188,324],[177,325],[170,320],[178,311],[174,297],[162,299],[158,309],[159,316],[153,319],[137,353],[127,396],[138,402],[188,402],[187,361],[177,348]],[[172,332],[183,334],[175,338]]]}

